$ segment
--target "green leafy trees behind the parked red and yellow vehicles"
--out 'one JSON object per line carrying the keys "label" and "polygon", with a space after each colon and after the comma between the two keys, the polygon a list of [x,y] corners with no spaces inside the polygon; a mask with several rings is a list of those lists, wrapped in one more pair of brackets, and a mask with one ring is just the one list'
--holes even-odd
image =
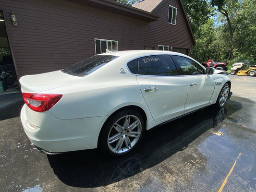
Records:
{"label": "green leafy trees behind the parked red and yellow vehicles", "polygon": [[211,0],[210,6],[215,16],[194,32],[192,57],[200,62],[214,59],[256,64],[256,0]]}

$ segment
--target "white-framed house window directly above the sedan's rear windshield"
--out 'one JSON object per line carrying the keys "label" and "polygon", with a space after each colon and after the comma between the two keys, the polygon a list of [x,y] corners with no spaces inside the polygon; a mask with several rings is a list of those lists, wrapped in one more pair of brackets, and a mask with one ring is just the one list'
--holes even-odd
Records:
{"label": "white-framed house window directly above the sedan's rear windshield", "polygon": [[118,41],[95,39],[95,53],[106,53],[107,50],[118,51]]}

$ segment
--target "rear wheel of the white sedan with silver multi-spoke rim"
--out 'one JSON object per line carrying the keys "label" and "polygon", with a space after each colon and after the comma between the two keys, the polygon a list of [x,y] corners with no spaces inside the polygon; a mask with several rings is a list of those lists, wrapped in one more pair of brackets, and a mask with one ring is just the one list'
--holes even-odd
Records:
{"label": "rear wheel of the white sedan with silver multi-spoke rim", "polygon": [[108,156],[127,154],[139,143],[144,129],[144,120],[137,111],[121,111],[102,127],[98,140],[99,149]]}

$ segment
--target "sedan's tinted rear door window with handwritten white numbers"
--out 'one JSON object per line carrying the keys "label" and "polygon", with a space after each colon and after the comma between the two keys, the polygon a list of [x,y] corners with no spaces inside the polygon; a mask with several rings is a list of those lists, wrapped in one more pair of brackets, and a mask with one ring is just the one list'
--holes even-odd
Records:
{"label": "sedan's tinted rear door window with handwritten white numbers", "polygon": [[169,55],[152,55],[138,59],[138,74],[172,76],[178,71]]}

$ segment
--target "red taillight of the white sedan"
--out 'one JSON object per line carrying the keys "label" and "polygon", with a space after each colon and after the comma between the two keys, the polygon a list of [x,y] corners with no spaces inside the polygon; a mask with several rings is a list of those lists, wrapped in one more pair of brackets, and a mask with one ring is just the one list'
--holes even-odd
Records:
{"label": "red taillight of the white sedan", "polygon": [[62,97],[61,94],[22,93],[25,104],[34,111],[44,112],[52,108]]}

